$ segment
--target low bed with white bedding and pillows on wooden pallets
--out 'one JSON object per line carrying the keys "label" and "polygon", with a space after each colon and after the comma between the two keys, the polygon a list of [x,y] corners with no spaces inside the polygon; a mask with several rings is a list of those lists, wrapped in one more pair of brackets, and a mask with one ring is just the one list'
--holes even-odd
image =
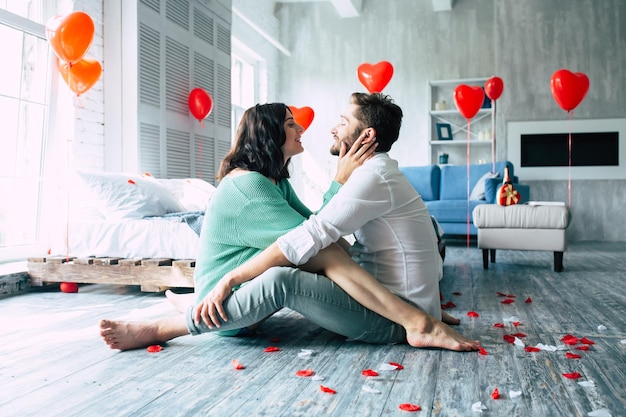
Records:
{"label": "low bed with white bedding and pillows on wooden pallets", "polygon": [[79,172],[69,188],[64,230],[52,240],[49,254],[28,258],[31,285],[193,288],[204,210],[215,190],[210,183]]}

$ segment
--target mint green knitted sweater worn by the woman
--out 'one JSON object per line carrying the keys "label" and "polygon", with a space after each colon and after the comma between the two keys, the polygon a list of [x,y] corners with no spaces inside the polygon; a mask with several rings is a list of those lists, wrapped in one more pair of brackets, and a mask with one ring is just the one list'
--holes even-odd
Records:
{"label": "mint green knitted sweater worn by the woman", "polygon": [[[339,190],[333,182],[324,204]],[[275,185],[257,172],[224,178],[211,197],[194,275],[197,301],[229,271],[270,246],[311,215],[289,181]]]}

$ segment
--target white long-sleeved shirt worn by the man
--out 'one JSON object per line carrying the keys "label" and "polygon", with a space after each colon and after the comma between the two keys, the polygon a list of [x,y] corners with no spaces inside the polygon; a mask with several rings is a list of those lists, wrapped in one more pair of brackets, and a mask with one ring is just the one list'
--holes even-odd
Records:
{"label": "white long-sleeved shirt worn by the man", "polygon": [[354,258],[393,293],[441,319],[442,260],[422,197],[387,153],[357,168],[317,214],[278,239],[295,265],[354,233]]}

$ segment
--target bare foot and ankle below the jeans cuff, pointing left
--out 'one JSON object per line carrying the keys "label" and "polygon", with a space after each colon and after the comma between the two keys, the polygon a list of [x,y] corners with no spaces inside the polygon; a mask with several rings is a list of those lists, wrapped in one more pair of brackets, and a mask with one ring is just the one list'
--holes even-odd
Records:
{"label": "bare foot and ankle below the jeans cuff, pointing left", "polygon": [[183,315],[154,322],[100,321],[100,337],[111,349],[138,349],[186,334],[189,330]]}

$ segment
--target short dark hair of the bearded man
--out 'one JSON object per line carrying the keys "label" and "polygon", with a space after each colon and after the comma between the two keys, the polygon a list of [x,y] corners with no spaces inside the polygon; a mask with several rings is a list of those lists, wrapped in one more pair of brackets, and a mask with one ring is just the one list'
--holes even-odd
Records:
{"label": "short dark hair of the bearded man", "polygon": [[352,93],[350,104],[356,104],[355,117],[363,123],[363,129],[376,129],[376,152],[388,152],[398,140],[402,125],[402,109],[393,99],[381,93]]}

